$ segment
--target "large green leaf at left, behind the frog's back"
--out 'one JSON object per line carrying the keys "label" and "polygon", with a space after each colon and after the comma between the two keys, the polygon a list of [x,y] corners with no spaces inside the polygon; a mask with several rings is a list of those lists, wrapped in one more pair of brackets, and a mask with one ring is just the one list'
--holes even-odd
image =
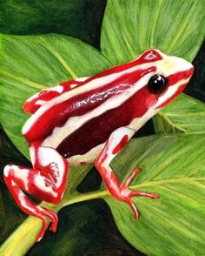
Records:
{"label": "large green leaf at left, behind the frog's back", "polygon": [[27,157],[21,129],[29,116],[23,102],[41,89],[71,77],[104,70],[109,62],[95,48],[66,36],[1,36],[0,122],[10,139]]}

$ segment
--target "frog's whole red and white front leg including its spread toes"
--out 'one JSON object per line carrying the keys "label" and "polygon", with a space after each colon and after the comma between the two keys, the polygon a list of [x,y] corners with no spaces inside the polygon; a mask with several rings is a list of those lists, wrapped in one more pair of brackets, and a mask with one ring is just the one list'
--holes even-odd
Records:
{"label": "frog's whole red and white front leg including its spread toes", "polygon": [[116,154],[121,151],[122,147],[129,142],[129,139],[134,135],[135,131],[128,127],[121,127],[114,131],[107,140],[102,152],[96,158],[96,168],[100,172],[105,185],[110,194],[120,201],[127,202],[134,212],[135,219],[138,219],[138,212],[136,206],[132,201],[132,197],[142,196],[151,199],[158,199],[159,196],[154,193],[130,191],[129,184],[140,172],[140,168],[136,168],[129,178],[121,185],[116,177],[115,172],[109,166],[111,160],[115,158]]}

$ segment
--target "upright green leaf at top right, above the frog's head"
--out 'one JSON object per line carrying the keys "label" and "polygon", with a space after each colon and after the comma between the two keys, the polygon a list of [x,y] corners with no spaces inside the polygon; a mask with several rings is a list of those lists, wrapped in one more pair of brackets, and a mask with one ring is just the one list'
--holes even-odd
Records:
{"label": "upright green leaf at top right, above the frog's head", "polygon": [[203,0],[108,1],[102,23],[102,53],[112,64],[150,48],[193,60],[205,31]]}

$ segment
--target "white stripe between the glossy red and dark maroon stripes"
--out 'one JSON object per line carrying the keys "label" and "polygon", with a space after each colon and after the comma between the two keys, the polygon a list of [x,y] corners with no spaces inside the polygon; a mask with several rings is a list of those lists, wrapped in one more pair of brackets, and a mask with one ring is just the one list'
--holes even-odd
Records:
{"label": "white stripe between the glossy red and dark maroon stripes", "polygon": [[90,119],[96,118],[100,116],[103,112],[109,111],[122,105],[127,99],[129,99],[137,91],[142,89],[144,84],[147,84],[149,77],[151,77],[152,75],[153,73],[145,75],[139,81],[137,81],[131,89],[129,89],[129,92],[118,94],[109,98],[107,101],[96,107],[96,109],[94,109],[93,111],[89,111],[83,116],[69,118],[65,125],[63,125],[63,127],[56,127],[53,130],[50,137],[46,138],[43,141],[43,146],[56,148],[57,145],[59,145],[63,141],[63,138],[69,136],[69,134],[71,134],[73,131],[76,131],[79,127],[88,122]]}

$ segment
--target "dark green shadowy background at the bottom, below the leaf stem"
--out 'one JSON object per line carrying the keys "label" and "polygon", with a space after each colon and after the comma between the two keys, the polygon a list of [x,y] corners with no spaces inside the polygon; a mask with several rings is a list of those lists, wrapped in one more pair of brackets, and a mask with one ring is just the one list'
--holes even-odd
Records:
{"label": "dark green shadowy background at the bottom, below the leaf stem", "polygon": [[102,200],[70,205],[58,215],[61,219],[58,232],[47,232],[45,239],[33,246],[28,256],[142,255],[124,241],[109,207]]}

